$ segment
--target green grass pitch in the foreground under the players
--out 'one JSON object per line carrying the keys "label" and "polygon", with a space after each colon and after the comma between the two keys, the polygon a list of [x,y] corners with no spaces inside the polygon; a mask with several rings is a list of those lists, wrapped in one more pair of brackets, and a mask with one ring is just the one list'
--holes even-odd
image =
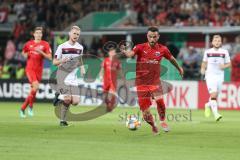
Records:
{"label": "green grass pitch in the foreground under the players", "polygon": [[[37,103],[35,116],[20,119],[20,103],[0,103],[1,160],[239,160],[239,111],[221,111],[216,123],[203,111],[167,110],[171,132],[153,136],[146,123],[125,127],[124,115],[138,108],[117,108],[86,122],[60,127],[51,104]],[[83,112],[90,107],[73,108]],[[153,109],[155,112],[155,109]],[[172,121],[172,115],[185,115]],[[187,118],[186,118],[187,117]],[[187,119],[187,121],[186,121]],[[171,120],[171,121],[170,121]]]}

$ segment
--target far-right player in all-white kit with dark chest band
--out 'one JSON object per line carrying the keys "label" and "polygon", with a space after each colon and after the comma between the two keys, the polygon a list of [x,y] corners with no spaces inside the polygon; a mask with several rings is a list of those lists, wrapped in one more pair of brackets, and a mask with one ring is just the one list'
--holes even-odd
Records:
{"label": "far-right player in all-white kit with dark chest band", "polygon": [[209,102],[205,104],[205,116],[209,117],[212,110],[215,120],[219,121],[222,115],[218,113],[217,97],[224,81],[224,69],[231,67],[231,60],[228,51],[221,48],[220,35],[213,35],[212,46],[204,52],[201,74],[205,75],[210,94]]}

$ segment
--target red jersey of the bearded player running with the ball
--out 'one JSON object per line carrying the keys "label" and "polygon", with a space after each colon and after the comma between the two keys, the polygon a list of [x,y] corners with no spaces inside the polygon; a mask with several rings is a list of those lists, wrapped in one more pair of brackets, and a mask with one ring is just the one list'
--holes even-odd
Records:
{"label": "red jersey of the bearded player running with the ball", "polygon": [[172,57],[168,48],[158,43],[154,47],[143,43],[136,45],[133,52],[137,55],[136,85],[159,85],[160,61]]}

